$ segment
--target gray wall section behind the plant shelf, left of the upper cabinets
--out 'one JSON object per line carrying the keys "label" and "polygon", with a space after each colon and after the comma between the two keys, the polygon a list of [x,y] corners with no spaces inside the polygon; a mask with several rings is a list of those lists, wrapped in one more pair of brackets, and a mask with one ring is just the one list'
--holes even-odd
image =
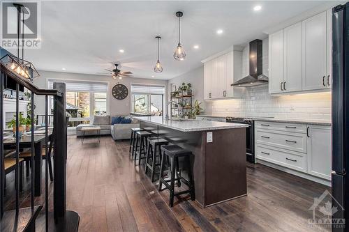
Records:
{"label": "gray wall section behind the plant shelf, left of the upper cabinets", "polygon": [[206,109],[204,100],[204,66],[202,65],[199,68],[195,68],[190,72],[184,73],[183,75],[169,79],[168,100],[170,100],[170,92],[172,91],[171,86],[176,85],[178,88],[178,86],[180,86],[183,82],[185,82],[186,84],[191,84],[194,95],[193,102],[195,102],[195,100],[199,100],[200,102],[202,102],[201,107]]}

